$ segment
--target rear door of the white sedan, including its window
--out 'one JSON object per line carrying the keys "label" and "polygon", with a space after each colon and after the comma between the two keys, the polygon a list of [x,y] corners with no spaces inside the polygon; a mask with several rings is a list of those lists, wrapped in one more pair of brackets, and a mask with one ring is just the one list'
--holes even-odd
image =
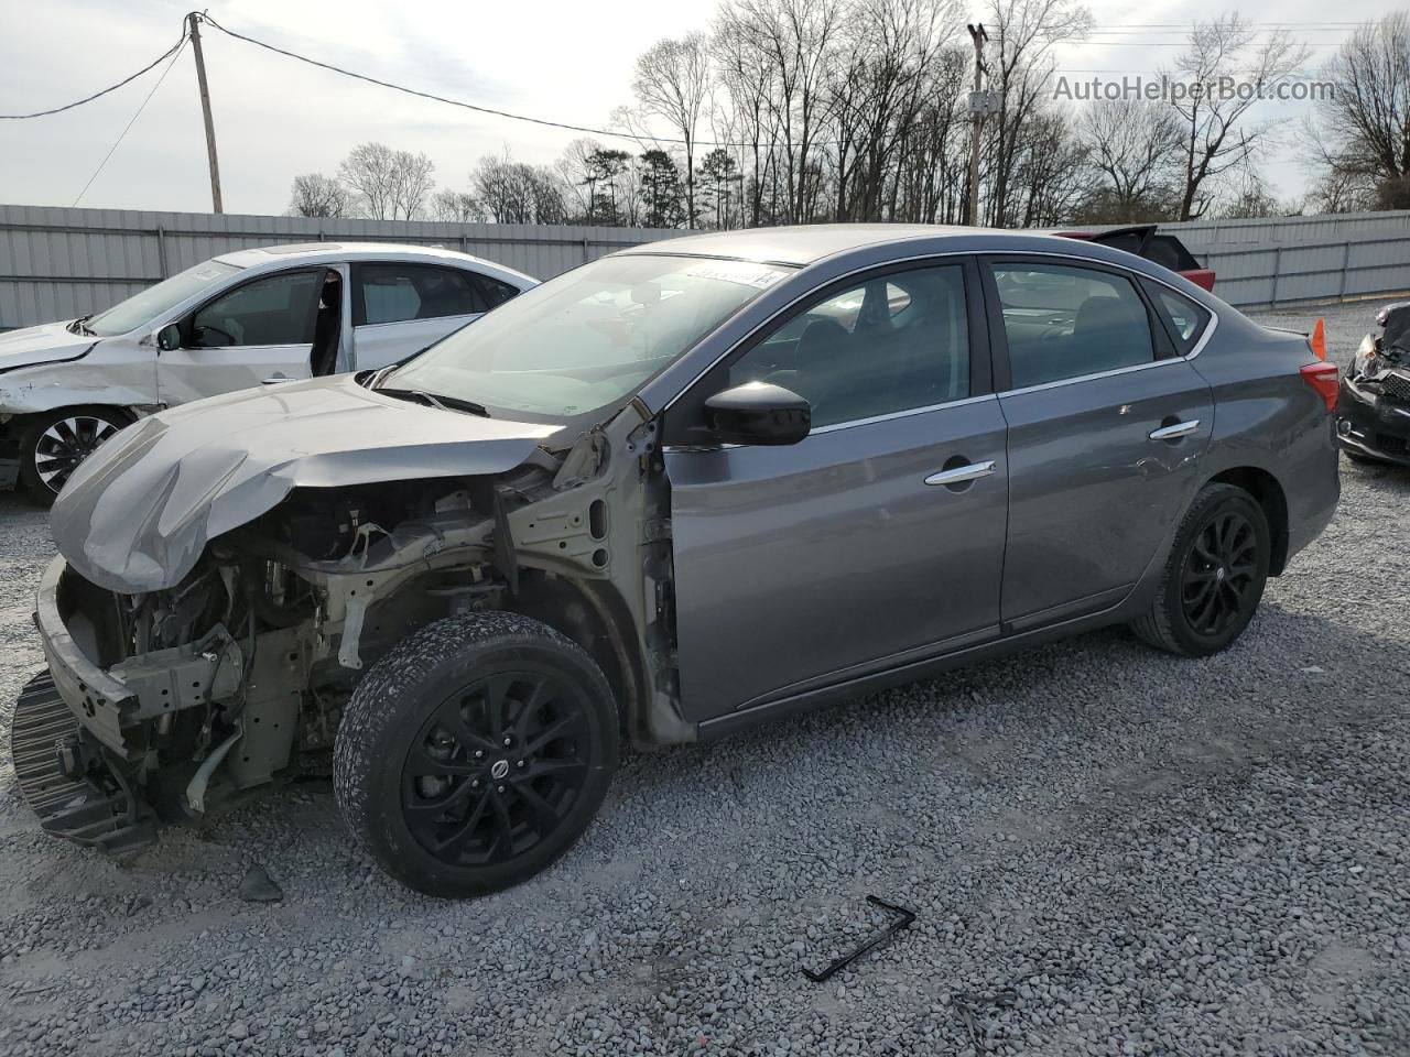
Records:
{"label": "rear door of the white sedan, including its window", "polygon": [[508,300],[505,292],[517,293],[462,268],[392,261],[355,264],[354,369],[395,364]]}

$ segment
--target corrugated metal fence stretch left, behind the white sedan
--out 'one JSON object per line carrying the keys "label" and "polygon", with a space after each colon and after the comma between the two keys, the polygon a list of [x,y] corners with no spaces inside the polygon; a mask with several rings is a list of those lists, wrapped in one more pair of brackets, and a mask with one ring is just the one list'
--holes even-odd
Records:
{"label": "corrugated metal fence stretch left, behind the white sedan", "polygon": [[681,234],[0,204],[0,330],[102,311],[216,254],[276,242],[441,245],[547,279],[623,247]]}

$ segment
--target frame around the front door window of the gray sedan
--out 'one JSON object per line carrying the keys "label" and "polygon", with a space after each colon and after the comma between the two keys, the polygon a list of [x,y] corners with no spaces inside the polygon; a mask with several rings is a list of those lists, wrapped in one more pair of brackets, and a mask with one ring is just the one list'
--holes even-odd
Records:
{"label": "frame around the front door window of the gray sedan", "polygon": [[[970,373],[970,395],[964,397],[957,397],[955,400],[945,400],[936,404],[925,404],[919,407],[909,407],[900,412],[890,412],[887,414],[869,416],[864,419],[853,419],[840,423],[832,423],[829,426],[819,426],[812,433],[830,433],[832,430],[847,428],[852,426],[859,426],[873,421],[884,421],[887,419],[900,419],[908,414],[921,414],[925,412],[933,412],[940,407],[952,407],[956,404],[979,402],[990,399],[995,393],[994,388],[994,361],[991,355],[991,326],[986,319],[984,313],[984,299],[981,296],[980,285],[980,268],[979,258],[974,254],[938,254],[935,256],[919,256],[908,258],[907,261],[891,262],[885,265],[877,265],[876,268],[867,268],[864,271],[850,272],[847,275],[833,279],[826,286],[819,286],[807,297],[801,297],[784,309],[780,309],[776,314],[770,316],[759,327],[753,330],[743,341],[735,345],[729,352],[716,359],[709,369],[697,378],[687,389],[684,389],[666,410],[666,433],[663,437],[663,444],[688,447],[699,443],[699,437],[688,435],[688,431],[694,430],[698,423],[705,400],[719,392],[719,386],[725,383],[729,378],[730,368],[744,357],[747,357],[754,348],[761,345],[770,337],[773,337],[781,326],[787,326],[799,314],[807,313],[811,307],[822,304],[839,293],[846,293],[856,286],[864,286],[869,282],[877,279],[884,279],[888,275],[895,275],[898,272],[915,272],[926,268],[945,268],[945,266],[959,266],[963,286],[964,286],[964,306],[966,306],[966,330],[969,333],[969,373]],[[671,417],[673,412],[675,420],[680,421],[684,416],[691,420],[685,427],[673,427]]]}

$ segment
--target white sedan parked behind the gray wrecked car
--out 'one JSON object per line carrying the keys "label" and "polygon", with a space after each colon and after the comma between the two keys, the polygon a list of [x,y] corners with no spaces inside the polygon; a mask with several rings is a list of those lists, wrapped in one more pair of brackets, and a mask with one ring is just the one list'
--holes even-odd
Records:
{"label": "white sedan parked behind the gray wrecked car", "polygon": [[0,488],[18,482],[49,502],[144,414],[386,366],[536,285],[448,249],[272,245],[223,254],[96,316],[0,334]]}

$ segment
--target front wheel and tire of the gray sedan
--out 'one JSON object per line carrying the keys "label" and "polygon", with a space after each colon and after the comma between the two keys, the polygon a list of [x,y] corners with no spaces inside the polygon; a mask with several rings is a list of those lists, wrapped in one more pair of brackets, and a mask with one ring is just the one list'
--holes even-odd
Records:
{"label": "front wheel and tire of the gray sedan", "polygon": [[616,705],[588,654],[516,613],[429,624],[348,702],[333,753],[343,817],[386,872],[443,898],[525,881],[596,815]]}

